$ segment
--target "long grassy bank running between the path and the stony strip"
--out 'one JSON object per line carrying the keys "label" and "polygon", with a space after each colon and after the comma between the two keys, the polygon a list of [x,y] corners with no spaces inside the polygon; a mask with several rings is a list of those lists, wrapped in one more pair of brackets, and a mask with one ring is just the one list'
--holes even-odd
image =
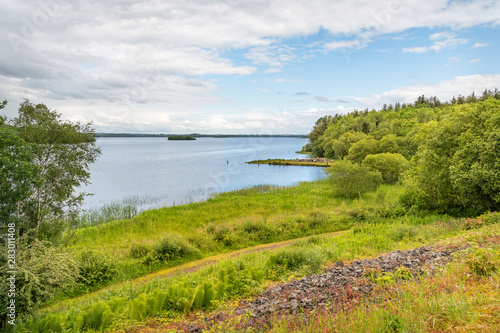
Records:
{"label": "long grassy bank running between the path and the stony strip", "polygon": [[[197,315],[190,315],[189,318],[198,318],[203,317],[205,311],[208,311],[208,314],[214,313],[213,311],[223,311],[231,306],[230,304],[234,304],[235,300],[257,295],[269,283],[319,272],[325,265],[339,260],[369,258],[396,249],[405,250],[435,242],[473,244],[485,237],[500,237],[498,224],[484,226],[478,230],[465,230],[467,226],[465,219],[445,221],[436,218],[441,217],[405,217],[400,221],[387,221],[387,223],[358,222],[341,237],[313,236],[285,249],[227,258],[219,264],[192,274],[115,285],[86,297],[55,304],[43,310],[35,320],[28,322],[27,326],[56,329],[64,323],[67,328],[73,329],[87,327],[105,331],[135,329],[140,331],[142,330],[140,327],[146,325],[167,331],[179,328],[177,326],[179,321],[188,318],[185,317],[186,314],[194,312]],[[423,283],[425,285],[425,282]],[[439,287],[446,286],[439,285]],[[203,296],[200,296],[201,290]],[[436,290],[431,292],[435,293]],[[448,291],[445,289],[443,294],[447,295]],[[418,301],[417,299],[416,302]],[[385,305],[380,306],[382,316],[385,313],[383,308]],[[407,304],[406,309],[412,306]],[[340,319],[346,322],[352,320],[348,314],[339,314],[341,315],[345,318]],[[357,320],[363,318],[361,312],[355,312],[353,316],[358,316]],[[79,317],[82,318],[80,322],[83,326],[78,326]],[[304,324],[307,321],[304,322],[300,315],[294,318],[294,321],[287,319],[286,322],[276,318],[271,331],[314,331],[311,330],[311,326]],[[334,323],[332,320],[327,323],[328,317],[318,318],[309,319],[313,320],[314,325],[325,321],[323,330],[325,332],[330,327],[328,325]],[[222,323],[222,326],[215,328],[214,332],[239,332],[238,325],[244,319],[238,318],[234,322]],[[373,323],[375,325],[377,321],[374,319]]]}

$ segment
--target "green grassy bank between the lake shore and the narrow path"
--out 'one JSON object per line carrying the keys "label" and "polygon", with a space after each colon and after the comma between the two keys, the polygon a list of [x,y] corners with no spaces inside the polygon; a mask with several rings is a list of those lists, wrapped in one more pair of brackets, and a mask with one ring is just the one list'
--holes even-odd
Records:
{"label": "green grassy bank between the lake shore and the narrow path", "polygon": [[[259,186],[74,230],[63,243],[76,256],[90,250],[112,258],[118,272],[111,282],[119,282],[199,257],[345,230],[357,220],[404,215],[398,192],[397,187],[387,186],[363,199],[347,200],[334,197],[326,181]],[[165,239],[189,244],[193,251],[145,264],[144,258]]]}

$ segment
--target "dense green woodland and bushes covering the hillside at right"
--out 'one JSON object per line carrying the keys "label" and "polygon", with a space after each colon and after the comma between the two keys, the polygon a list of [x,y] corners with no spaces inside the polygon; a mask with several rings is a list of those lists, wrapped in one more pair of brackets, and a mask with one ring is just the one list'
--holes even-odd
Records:
{"label": "dense green woodland and bushes covering the hillside at right", "polygon": [[303,150],[337,161],[328,172],[339,195],[400,182],[407,208],[465,215],[498,211],[499,106],[495,89],[480,97],[440,102],[422,95],[414,103],[325,116]]}

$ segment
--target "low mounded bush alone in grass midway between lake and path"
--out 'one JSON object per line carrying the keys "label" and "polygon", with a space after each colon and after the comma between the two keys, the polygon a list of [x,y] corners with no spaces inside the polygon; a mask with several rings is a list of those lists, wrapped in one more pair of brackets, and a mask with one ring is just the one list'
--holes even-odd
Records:
{"label": "low mounded bush alone in grass midway between lake and path", "polygon": [[180,235],[169,234],[144,258],[146,264],[178,260],[187,257],[200,258],[200,251]]}

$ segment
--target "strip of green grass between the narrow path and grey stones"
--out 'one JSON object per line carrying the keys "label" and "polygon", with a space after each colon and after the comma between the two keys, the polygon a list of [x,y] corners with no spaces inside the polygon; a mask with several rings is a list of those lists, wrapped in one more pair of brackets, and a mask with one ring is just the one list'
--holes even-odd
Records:
{"label": "strip of green grass between the narrow path and grey stones", "polygon": [[[230,258],[193,274],[179,275],[169,279],[151,279],[141,283],[119,284],[84,298],[55,304],[43,310],[37,319],[28,325],[34,325],[37,321],[43,323],[53,318],[65,318],[68,323],[76,322],[79,316],[83,316],[81,313],[88,315],[93,311],[101,310],[100,315],[102,316],[105,309],[108,307],[114,309],[114,304],[119,302],[121,305],[117,306],[116,310],[110,311],[113,318],[120,319],[110,321],[107,324],[109,326],[106,327],[127,327],[133,322],[141,322],[146,317],[162,313],[172,315],[196,310],[197,307],[193,306],[194,303],[192,303],[196,290],[199,290],[200,286],[206,283],[213,286],[215,300],[228,301],[256,295],[269,281],[284,281],[291,277],[296,278],[317,272],[321,266],[328,262],[373,257],[379,253],[421,246],[463,232],[463,224],[453,221],[426,224],[427,221],[424,219],[422,225],[415,225],[415,220],[411,220],[411,224],[409,224],[409,221],[359,223],[341,237],[313,236],[286,249]],[[397,234],[401,228],[415,226],[418,228],[411,237],[403,237],[402,240],[399,240],[398,237],[386,237],[387,234]],[[307,255],[304,256],[304,254]],[[284,265],[284,262],[288,264]],[[169,288],[185,289],[186,296],[169,295],[170,301],[165,303],[167,305],[164,307],[160,309],[151,307],[150,310],[145,308],[146,310],[141,310],[143,315],[137,315],[135,309],[136,307],[142,309],[141,302],[147,303],[148,299],[153,302],[152,299],[157,297],[158,290],[169,290]],[[188,303],[183,303],[182,299],[187,300]]]}

